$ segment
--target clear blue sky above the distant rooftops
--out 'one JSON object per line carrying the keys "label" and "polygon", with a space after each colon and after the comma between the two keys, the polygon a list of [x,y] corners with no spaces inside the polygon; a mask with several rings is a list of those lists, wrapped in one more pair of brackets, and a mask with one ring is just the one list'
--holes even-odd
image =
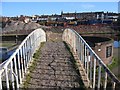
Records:
{"label": "clear blue sky above the distant rooftops", "polygon": [[[118,2],[2,2],[2,16],[51,15],[67,12],[118,12]],[[1,6],[1,5],[0,5]]]}

